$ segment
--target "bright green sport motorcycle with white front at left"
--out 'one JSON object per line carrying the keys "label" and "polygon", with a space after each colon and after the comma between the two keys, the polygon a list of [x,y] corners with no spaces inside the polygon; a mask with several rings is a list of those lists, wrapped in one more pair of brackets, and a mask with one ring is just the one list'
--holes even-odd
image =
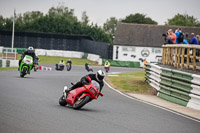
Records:
{"label": "bright green sport motorcycle with white front at left", "polygon": [[19,68],[20,76],[24,77],[26,74],[30,74],[32,67],[33,67],[33,58],[29,55],[25,55]]}

